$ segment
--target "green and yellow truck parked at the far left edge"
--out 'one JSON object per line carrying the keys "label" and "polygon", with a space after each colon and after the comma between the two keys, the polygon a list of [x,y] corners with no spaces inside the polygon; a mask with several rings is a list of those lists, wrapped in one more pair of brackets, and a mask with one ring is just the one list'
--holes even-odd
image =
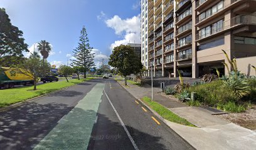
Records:
{"label": "green and yellow truck parked at the far left edge", "polygon": [[15,85],[33,84],[33,78],[24,69],[0,67],[0,89],[14,88]]}

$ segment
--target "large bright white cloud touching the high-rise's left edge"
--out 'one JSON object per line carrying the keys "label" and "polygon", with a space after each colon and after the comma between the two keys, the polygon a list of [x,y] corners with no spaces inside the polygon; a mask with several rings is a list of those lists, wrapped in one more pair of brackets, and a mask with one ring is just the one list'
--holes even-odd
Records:
{"label": "large bright white cloud touching the high-rise's left edge", "polygon": [[141,43],[141,16],[134,16],[127,19],[121,19],[115,15],[111,19],[105,21],[108,27],[114,29],[115,34],[124,39],[115,41],[111,44],[110,49],[120,44],[127,44],[128,42]]}

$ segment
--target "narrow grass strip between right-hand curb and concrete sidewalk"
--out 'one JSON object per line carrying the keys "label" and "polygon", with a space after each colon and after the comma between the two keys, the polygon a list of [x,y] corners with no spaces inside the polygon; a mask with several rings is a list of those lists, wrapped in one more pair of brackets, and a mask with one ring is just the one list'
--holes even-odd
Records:
{"label": "narrow grass strip between right-hand curb and concrete sidewalk", "polygon": [[189,123],[186,119],[181,118],[177,114],[174,114],[173,112],[164,108],[164,106],[162,106],[161,104],[151,101],[151,99],[148,98],[147,96],[142,98],[142,101],[144,101],[150,108],[156,111],[157,114],[159,114],[160,116],[162,116],[164,119],[168,121],[171,121],[173,123],[183,124],[185,126],[196,127],[194,124]]}

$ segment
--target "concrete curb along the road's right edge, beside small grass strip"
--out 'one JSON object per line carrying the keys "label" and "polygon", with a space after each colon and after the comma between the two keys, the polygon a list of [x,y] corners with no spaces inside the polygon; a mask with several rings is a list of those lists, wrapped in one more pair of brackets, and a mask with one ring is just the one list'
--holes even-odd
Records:
{"label": "concrete curb along the road's right edge, beside small grass strip", "polygon": [[[117,82],[117,81],[116,81]],[[117,82],[118,84],[120,84],[119,82]],[[122,84],[120,84],[120,86],[122,86]],[[124,88],[124,86],[122,86],[122,88]],[[124,88],[125,89],[125,88]],[[127,91],[127,89],[125,89],[125,91]],[[132,95],[129,91],[127,91],[131,96],[133,96],[134,98],[136,98],[138,101],[141,102],[142,105],[144,105],[147,109],[149,109],[149,111],[151,111],[151,113],[153,113],[157,118],[159,118],[169,129],[171,129],[171,131],[173,131],[174,133],[176,133],[176,131],[174,131],[170,126],[168,126],[168,123],[166,123],[165,119],[160,116],[158,113],[156,113],[156,111],[154,111],[153,109],[151,109],[149,106],[147,106],[146,103],[144,103],[141,99],[137,98],[136,96]],[[182,124],[180,124],[181,126],[184,126]],[[185,143],[189,144],[189,146],[191,146],[192,148],[196,149],[194,146],[192,146],[190,143],[188,143],[188,141],[186,141],[186,139],[184,139],[182,136],[180,136],[178,133],[176,133],[176,135],[179,136],[179,138],[183,139]]]}

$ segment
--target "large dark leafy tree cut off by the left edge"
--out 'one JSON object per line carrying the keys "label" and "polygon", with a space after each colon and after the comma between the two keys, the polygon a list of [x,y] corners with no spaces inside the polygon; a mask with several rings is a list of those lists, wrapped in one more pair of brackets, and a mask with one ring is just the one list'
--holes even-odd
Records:
{"label": "large dark leafy tree cut off by the left edge", "polygon": [[4,8],[0,8],[0,64],[16,66],[24,61],[23,52],[28,52],[23,32],[11,24]]}

